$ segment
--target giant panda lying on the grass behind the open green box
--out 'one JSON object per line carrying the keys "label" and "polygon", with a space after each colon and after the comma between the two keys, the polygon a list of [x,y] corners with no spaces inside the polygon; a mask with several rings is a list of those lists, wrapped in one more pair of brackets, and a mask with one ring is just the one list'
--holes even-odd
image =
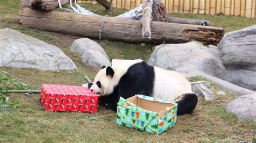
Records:
{"label": "giant panda lying on the grass behind the open green box", "polygon": [[95,82],[88,86],[100,95],[99,101],[113,111],[117,110],[120,96],[126,99],[136,94],[178,103],[177,115],[192,113],[198,103],[197,95],[183,75],[147,65],[143,60],[104,66],[96,75]]}

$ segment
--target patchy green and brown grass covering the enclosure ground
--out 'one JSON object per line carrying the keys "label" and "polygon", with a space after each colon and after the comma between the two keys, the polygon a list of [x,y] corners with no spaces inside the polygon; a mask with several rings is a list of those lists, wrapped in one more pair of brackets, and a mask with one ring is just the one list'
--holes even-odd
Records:
{"label": "patchy green and brown grass covering the enclosure ground", "polygon": [[[100,5],[84,4],[99,15],[108,13]],[[73,40],[81,38],[72,35],[32,30],[18,24],[16,17],[21,9],[18,0],[0,0],[0,28],[9,27],[31,35],[62,49],[78,67],[78,71],[41,71],[37,69],[1,68],[15,78],[21,78],[31,87],[39,88],[43,83],[81,85],[85,75],[93,80],[98,68],[87,66],[82,57],[71,53]],[[111,16],[127,10],[116,9]],[[211,20],[213,26],[224,27],[226,32],[255,24],[255,19],[231,16],[181,15],[173,17]],[[153,45],[97,40],[110,59],[147,60]],[[194,81],[206,80],[197,78]],[[212,90],[219,89],[212,84]],[[197,110],[192,115],[179,116],[176,126],[160,135],[139,132],[116,125],[116,113],[100,106],[97,113],[46,112],[39,104],[39,94],[11,94],[10,101],[21,103],[14,112],[0,111],[0,142],[170,142],[170,141],[252,141],[256,137],[256,123],[240,121],[224,110],[226,103],[235,95],[226,91],[225,96],[217,95],[212,102],[199,98]],[[96,119],[95,119],[96,117]]]}

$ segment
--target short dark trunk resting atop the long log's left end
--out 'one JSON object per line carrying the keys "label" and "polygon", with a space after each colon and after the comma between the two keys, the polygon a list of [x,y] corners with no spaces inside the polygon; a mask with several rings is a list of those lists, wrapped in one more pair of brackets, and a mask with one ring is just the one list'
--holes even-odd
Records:
{"label": "short dark trunk resting atop the long log's left end", "polygon": [[[28,0],[20,0],[22,1],[28,1]],[[30,8],[34,10],[54,10],[58,8],[58,0],[30,0]],[[60,0],[62,5],[67,4],[69,0]],[[27,3],[28,5],[28,3]]]}

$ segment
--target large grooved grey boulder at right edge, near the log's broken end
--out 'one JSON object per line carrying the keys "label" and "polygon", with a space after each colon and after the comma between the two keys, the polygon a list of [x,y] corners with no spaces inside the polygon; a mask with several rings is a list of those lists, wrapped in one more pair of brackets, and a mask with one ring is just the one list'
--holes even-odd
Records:
{"label": "large grooved grey boulder at right edge, near the log's broken end", "polygon": [[256,25],[226,33],[218,46],[226,67],[256,71]]}

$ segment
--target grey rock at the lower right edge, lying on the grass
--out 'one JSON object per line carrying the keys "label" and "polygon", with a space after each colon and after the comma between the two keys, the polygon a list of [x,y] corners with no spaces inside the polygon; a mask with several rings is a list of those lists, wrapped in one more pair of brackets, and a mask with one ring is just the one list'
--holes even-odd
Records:
{"label": "grey rock at the lower right edge, lying on the grass", "polygon": [[256,121],[256,94],[239,96],[228,103],[225,109],[241,120]]}

